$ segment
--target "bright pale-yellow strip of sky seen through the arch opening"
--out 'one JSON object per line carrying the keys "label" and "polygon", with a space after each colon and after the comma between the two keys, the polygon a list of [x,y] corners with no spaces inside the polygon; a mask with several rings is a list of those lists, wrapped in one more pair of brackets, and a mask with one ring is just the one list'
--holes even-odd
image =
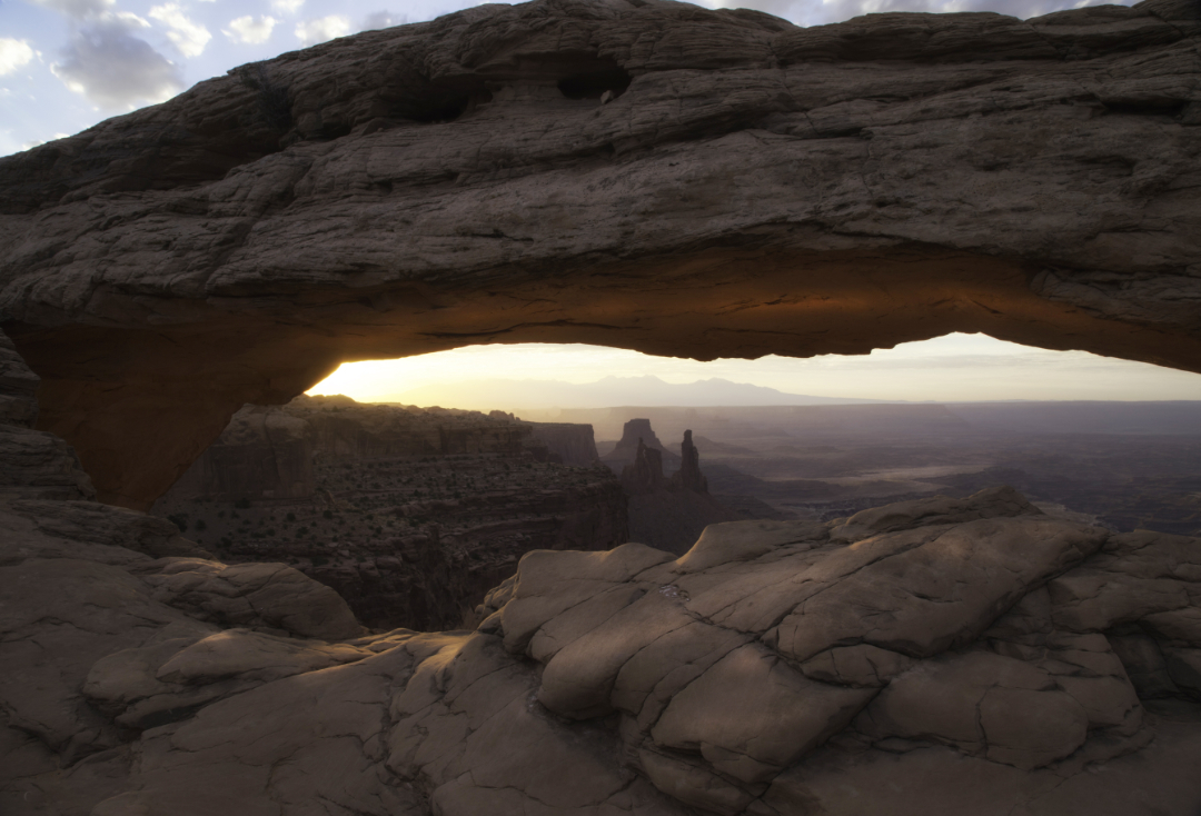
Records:
{"label": "bright pale-yellow strip of sky seen through the arch opening", "polygon": [[[309,392],[345,394],[360,402],[406,402],[401,398],[406,390],[494,377],[593,383],[607,376],[646,374],[668,383],[717,377],[787,394],[909,402],[1201,400],[1201,374],[960,334],[856,356],[711,362],[597,346],[473,346],[346,364]],[[458,407],[437,398],[431,404]]]}

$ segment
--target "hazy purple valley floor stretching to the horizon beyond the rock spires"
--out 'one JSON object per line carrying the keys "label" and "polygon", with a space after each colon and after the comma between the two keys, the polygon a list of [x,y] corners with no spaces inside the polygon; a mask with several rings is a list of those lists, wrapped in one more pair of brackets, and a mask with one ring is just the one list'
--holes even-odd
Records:
{"label": "hazy purple valley floor stretching to the horizon beyond the rock spires", "polygon": [[[1201,402],[533,412],[551,414],[602,437],[620,436],[626,416],[647,416],[664,436],[694,430],[710,491],[746,517],[829,520],[1004,484],[1116,532],[1201,534]],[[602,460],[614,445],[597,442]]]}

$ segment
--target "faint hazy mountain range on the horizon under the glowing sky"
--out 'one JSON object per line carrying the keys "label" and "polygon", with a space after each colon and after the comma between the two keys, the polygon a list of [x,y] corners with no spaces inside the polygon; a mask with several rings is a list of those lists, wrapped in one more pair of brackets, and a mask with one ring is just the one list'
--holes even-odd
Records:
{"label": "faint hazy mountain range on the horizon under the glowing sky", "polygon": [[849,406],[895,402],[785,394],[773,388],[703,379],[695,383],[664,383],[658,377],[605,377],[596,383],[563,383],[554,379],[483,379],[450,385],[425,385],[380,402],[406,406],[442,406],[477,410],[521,408],[615,408],[710,406]]}

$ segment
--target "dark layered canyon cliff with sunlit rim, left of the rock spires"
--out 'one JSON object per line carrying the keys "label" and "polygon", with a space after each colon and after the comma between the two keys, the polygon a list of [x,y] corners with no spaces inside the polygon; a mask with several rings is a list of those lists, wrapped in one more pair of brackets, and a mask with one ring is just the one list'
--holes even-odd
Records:
{"label": "dark layered canyon cliff with sunlit rim, left of the rock spires", "polygon": [[234,414],[151,514],[225,563],[287,563],[370,628],[450,630],[526,552],[629,540],[596,462],[587,425],[300,396]]}

